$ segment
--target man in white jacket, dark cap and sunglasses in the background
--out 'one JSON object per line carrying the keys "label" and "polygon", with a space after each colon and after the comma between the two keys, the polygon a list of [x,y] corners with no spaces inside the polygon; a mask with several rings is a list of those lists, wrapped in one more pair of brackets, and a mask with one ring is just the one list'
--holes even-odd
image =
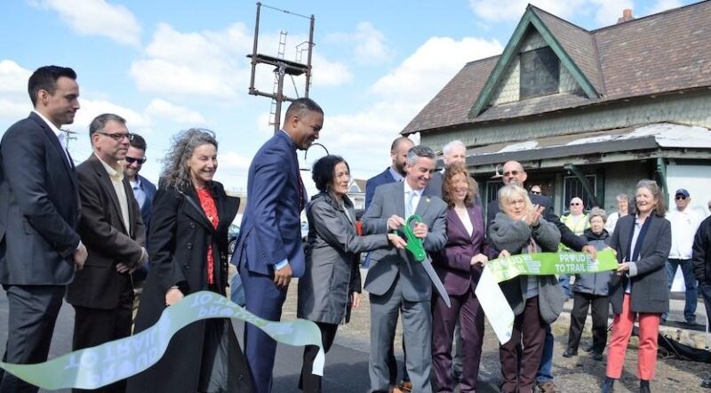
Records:
{"label": "man in white jacket, dark cap and sunglasses in the background", "polygon": [[[694,235],[703,217],[689,207],[691,196],[684,188],[676,190],[675,207],[669,209],[667,220],[672,223],[672,249],[667,259],[668,287],[671,289],[676,269],[682,267],[683,281],[686,286],[686,302],[683,307],[683,317],[689,325],[696,325],[697,282],[694,277],[691,262],[691,248]],[[661,316],[662,323],[667,321],[667,313]]]}

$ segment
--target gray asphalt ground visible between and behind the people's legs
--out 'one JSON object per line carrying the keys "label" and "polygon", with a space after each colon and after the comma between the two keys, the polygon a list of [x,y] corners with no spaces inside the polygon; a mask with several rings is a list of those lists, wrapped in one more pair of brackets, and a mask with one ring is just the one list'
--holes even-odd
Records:
{"label": "gray asphalt ground visible between and behind the people's legs", "polygon": [[[364,273],[364,272],[363,272]],[[363,275],[364,277],[364,275]],[[292,282],[290,293],[284,304],[283,319],[295,318],[296,312],[296,282]],[[683,320],[683,300],[673,300],[670,321]],[[566,303],[566,310],[570,310],[572,301]],[[699,321],[703,319],[703,302],[699,301],[697,310]],[[0,293],[0,342],[7,337],[7,298],[4,292]],[[58,357],[67,353],[71,348],[74,310],[64,304],[60,311],[50,357]],[[589,325],[583,334],[580,344],[579,356],[562,357],[565,344],[568,340],[568,326],[570,317],[567,312],[553,325],[555,334],[554,374],[558,389],[563,392],[587,393],[599,392],[600,383],[604,376],[605,362],[597,362],[582,348],[590,342]],[[672,322],[672,329],[679,333],[685,332],[683,324]],[[241,337],[242,322],[235,323],[237,335]],[[483,357],[479,374],[477,391],[488,393],[499,391],[499,350],[498,341],[487,325],[487,333],[483,344]],[[699,330],[699,326],[695,327]],[[399,349],[402,335],[398,326],[395,348]],[[361,309],[354,311],[351,323],[340,327],[336,341],[331,351],[326,356],[324,375],[324,392],[363,393],[369,389],[368,354],[370,352],[370,317],[367,293],[363,293]],[[299,381],[302,348],[279,345],[276,354],[274,389],[276,393],[299,392]],[[636,370],[636,342],[630,343],[627,350],[625,369],[621,380],[616,384],[616,392],[638,391]],[[402,352],[396,350],[396,357],[402,361]],[[402,366],[402,364],[401,364]],[[711,376],[711,365],[683,361],[677,359],[659,359],[657,376],[651,381],[651,390],[655,392],[711,392],[711,389],[699,387],[701,378]],[[43,391],[43,390],[41,390]],[[66,391],[69,390],[57,390]]]}

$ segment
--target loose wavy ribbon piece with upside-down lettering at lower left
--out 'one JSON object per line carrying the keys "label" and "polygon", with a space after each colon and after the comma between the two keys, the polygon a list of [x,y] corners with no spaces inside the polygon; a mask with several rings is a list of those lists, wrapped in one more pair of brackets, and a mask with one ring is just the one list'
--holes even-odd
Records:
{"label": "loose wavy ribbon piece with upside-down lettering at lower left", "polygon": [[192,293],[179,303],[164,309],[156,323],[147,330],[96,347],[79,349],[36,365],[0,367],[23,381],[42,389],[97,389],[148,369],[163,357],[168,342],[181,328],[207,318],[235,318],[259,327],[274,340],[284,344],[317,345],[313,373],[324,375],[324,349],[321,331],[311,321],[297,319],[273,322],[262,319],[218,293]]}

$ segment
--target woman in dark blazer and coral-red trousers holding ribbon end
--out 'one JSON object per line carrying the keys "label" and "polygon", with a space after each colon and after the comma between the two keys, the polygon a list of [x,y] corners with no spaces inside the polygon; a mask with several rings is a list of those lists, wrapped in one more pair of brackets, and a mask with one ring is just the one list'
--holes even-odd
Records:
{"label": "woman in dark blazer and coral-red trousers holding ribbon end", "polygon": [[603,392],[611,392],[622,373],[627,342],[639,318],[637,377],[640,392],[650,391],[657,365],[657,336],[661,314],[669,310],[665,262],[672,244],[667,208],[653,180],[637,183],[636,214],[620,217],[610,246],[617,253],[619,269],[610,282],[610,303],[615,313]]}

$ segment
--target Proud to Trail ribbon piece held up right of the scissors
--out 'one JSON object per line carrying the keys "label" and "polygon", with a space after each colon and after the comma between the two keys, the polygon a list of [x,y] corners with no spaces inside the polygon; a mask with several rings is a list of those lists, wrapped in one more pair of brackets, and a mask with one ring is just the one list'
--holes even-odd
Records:
{"label": "Proud to Trail ribbon piece held up right of the scissors", "polygon": [[475,294],[484,315],[502,344],[511,339],[514,311],[508,305],[499,283],[521,275],[547,276],[597,273],[618,269],[611,250],[600,251],[593,260],[588,253],[527,253],[487,262]]}

